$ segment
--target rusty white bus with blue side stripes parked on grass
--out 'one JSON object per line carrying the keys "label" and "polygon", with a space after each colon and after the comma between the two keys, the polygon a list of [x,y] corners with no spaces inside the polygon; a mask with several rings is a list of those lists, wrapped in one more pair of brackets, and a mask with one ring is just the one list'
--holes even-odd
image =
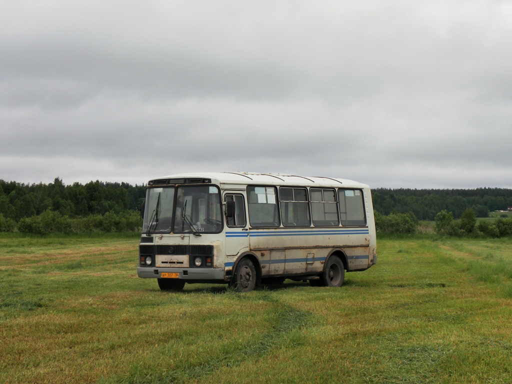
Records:
{"label": "rusty white bus with blue side stripes parked on grass", "polygon": [[370,187],[281,174],[179,174],[147,183],[140,278],[251,291],[285,279],[339,287],[377,262]]}

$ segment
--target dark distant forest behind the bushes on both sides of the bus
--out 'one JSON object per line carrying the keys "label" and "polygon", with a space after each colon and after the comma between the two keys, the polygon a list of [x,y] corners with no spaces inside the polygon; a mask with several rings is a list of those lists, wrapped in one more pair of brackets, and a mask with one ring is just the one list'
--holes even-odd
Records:
{"label": "dark distant forest behind the bushes on both sides of the bus", "polygon": [[[0,215],[15,222],[45,211],[69,218],[138,211],[145,185],[91,181],[65,185],[60,178],[49,184],[22,184],[0,180]],[[458,219],[466,209],[477,217],[512,206],[512,189],[386,189],[372,190],[373,207],[381,215],[412,213],[419,220],[434,220],[441,210]]]}

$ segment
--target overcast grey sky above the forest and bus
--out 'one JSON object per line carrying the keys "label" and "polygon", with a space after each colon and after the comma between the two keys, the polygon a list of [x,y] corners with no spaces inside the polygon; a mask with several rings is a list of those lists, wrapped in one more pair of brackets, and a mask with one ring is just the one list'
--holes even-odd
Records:
{"label": "overcast grey sky above the forest and bus", "polygon": [[0,178],[512,188],[512,1],[0,0]]}

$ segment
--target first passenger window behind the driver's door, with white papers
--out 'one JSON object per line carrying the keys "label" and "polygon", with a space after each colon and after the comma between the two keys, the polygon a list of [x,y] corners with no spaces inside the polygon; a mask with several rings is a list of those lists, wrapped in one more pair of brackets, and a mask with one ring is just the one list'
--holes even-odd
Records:
{"label": "first passenger window behind the driver's door, with white papers", "polygon": [[279,227],[275,187],[248,186],[247,200],[252,227]]}

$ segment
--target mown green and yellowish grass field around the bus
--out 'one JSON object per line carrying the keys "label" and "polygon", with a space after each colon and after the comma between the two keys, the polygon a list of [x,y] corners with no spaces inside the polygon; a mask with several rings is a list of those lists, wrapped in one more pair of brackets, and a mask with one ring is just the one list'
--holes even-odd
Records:
{"label": "mown green and yellowish grass field around the bus", "polygon": [[510,383],[512,239],[379,239],[342,288],[161,292],[138,236],[0,238],[2,383]]}

